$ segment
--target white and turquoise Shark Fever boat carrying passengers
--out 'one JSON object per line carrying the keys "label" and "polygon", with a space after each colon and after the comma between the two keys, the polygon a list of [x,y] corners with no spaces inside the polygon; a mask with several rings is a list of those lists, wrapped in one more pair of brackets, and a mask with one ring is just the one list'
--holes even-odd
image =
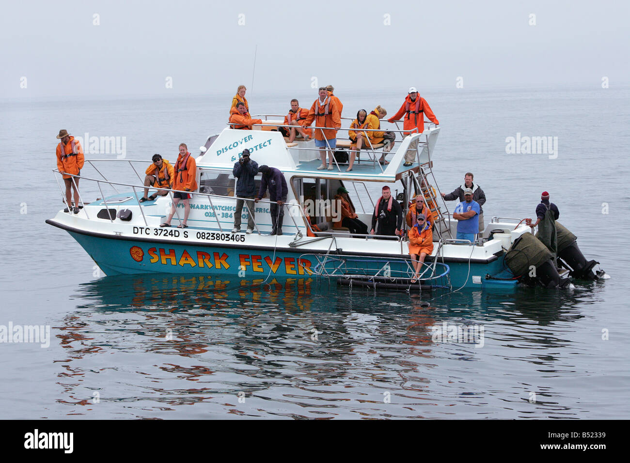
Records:
{"label": "white and turquoise Shark Fever boat carrying passengers", "polygon": [[[319,171],[321,161],[314,140],[297,138],[289,142],[277,130],[284,123],[282,116],[258,115],[258,118],[263,118],[263,123],[254,125],[253,130],[231,129],[228,125],[200,147],[196,158],[198,190],[190,199],[188,228],[175,228],[183,217],[181,202],[173,217],[173,227],[159,226],[171,208],[173,190],[156,200],[139,202],[144,179],[135,166],[146,166],[151,162],[146,159],[86,159],[95,174],[81,176],[79,213],[60,210],[46,222],[69,232],[106,275],[205,273],[238,275],[254,281],[270,275],[325,277],[347,285],[420,290],[513,289],[519,282],[563,287],[571,275],[590,279],[604,275],[592,271],[597,262],[585,260],[575,236],[572,239],[567,236],[563,241],[566,253],[560,257],[564,268],[558,271],[549,251],[545,253],[544,245],[520,219],[493,217],[474,242],[455,239],[457,220],[452,219],[433,175],[432,157],[440,133],[440,127],[433,123],[425,123],[421,134],[406,137],[396,124],[392,132],[397,134],[398,149],[385,153],[391,157],[389,164],[383,166],[378,161],[383,149],[387,151],[389,146],[378,144],[359,151],[353,170],[348,172],[344,165],[347,163],[340,162],[344,156],[335,156],[334,170]],[[340,129],[339,133],[347,131]],[[412,142],[416,142],[415,163],[406,167],[404,156]],[[270,235],[270,202],[264,198],[255,204],[254,232],[231,232],[238,199],[232,168],[245,148],[259,166],[267,164],[284,174],[289,195],[282,206],[285,208],[282,234]],[[337,140],[337,153],[349,153],[349,149],[347,139]],[[97,167],[98,163],[101,164]],[[139,182],[108,180],[101,173],[102,164],[113,165],[113,171],[118,173],[121,168],[129,169],[129,174],[132,170]],[[59,171],[55,169],[54,173],[63,198]],[[255,183],[258,188],[260,173]],[[418,194],[425,195],[432,210],[433,252],[425,259],[415,283],[411,283],[414,272],[406,230],[401,237],[382,239],[382,236],[350,234],[348,229],[333,226],[333,198],[340,186],[350,192],[358,219],[369,226],[375,205],[368,186],[376,186],[380,191],[385,183],[399,186],[392,188],[395,190],[392,194],[401,202],[403,214],[411,198]],[[100,197],[86,202],[86,194],[91,194],[88,190]],[[304,206],[308,200],[318,200],[321,205],[315,208],[311,222],[319,224],[322,231],[313,231],[307,220]],[[246,222],[248,215],[245,203],[242,220]],[[403,227],[406,229],[404,221]],[[536,272],[531,272],[532,268]]]}

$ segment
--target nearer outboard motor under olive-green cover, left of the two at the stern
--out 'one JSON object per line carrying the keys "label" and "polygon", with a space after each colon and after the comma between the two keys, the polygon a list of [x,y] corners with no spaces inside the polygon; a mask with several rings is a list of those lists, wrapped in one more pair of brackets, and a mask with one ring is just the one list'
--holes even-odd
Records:
{"label": "nearer outboard motor under olive-green cover, left of the two at the stern", "polygon": [[[564,288],[571,281],[561,277],[554,265],[553,254],[531,233],[515,239],[505,254],[505,263],[520,282],[529,285]],[[532,267],[535,269],[533,272]]]}

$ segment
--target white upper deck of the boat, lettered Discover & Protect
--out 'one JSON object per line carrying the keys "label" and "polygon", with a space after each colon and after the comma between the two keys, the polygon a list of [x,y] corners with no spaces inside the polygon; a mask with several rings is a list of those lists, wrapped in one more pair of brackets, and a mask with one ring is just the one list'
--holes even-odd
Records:
{"label": "white upper deck of the boat, lettered Discover & Protect", "polygon": [[[346,171],[348,163],[335,161],[333,170],[318,170],[321,165],[319,148],[315,146],[314,139],[304,141],[301,137],[289,142],[277,131],[282,126],[282,120],[270,119],[274,115],[257,115],[264,118],[262,124],[255,124],[253,130],[224,129],[219,134],[208,137],[202,154],[197,158],[197,166],[200,168],[229,169],[234,167],[243,149],[249,149],[251,159],[259,166],[266,164],[270,167],[286,172],[311,174],[313,177],[342,176],[343,178],[364,179],[374,181],[395,181],[405,171],[415,170],[421,164],[428,163],[433,154],[440,127],[427,123],[428,127],[421,134],[412,134],[403,138],[403,130],[382,127],[380,130],[389,130],[396,133],[396,140],[391,151],[383,153],[383,146],[379,144],[368,147],[358,152],[357,160],[350,172]],[[342,118],[345,122],[348,118]],[[386,121],[382,121],[387,123]],[[287,127],[287,126],[284,126]],[[311,127],[321,130],[322,127]],[[334,151],[345,151],[350,155],[350,140],[348,128],[341,128],[337,133],[337,147]],[[365,129],[369,132],[369,129]],[[411,166],[404,166],[404,157],[410,144],[418,140],[415,149],[415,159]],[[205,149],[205,152],[203,150]],[[381,156],[385,154],[389,164],[379,163]]]}

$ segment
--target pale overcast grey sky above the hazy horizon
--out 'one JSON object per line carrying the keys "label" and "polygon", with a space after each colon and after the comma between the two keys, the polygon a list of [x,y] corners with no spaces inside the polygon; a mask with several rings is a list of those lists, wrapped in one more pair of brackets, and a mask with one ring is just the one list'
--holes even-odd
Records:
{"label": "pale overcast grey sky above the hazy horizon", "polygon": [[630,83],[629,13],[627,1],[11,1],[0,98],[249,91],[256,45],[255,92],[314,78],[357,92],[457,77],[614,88]]}

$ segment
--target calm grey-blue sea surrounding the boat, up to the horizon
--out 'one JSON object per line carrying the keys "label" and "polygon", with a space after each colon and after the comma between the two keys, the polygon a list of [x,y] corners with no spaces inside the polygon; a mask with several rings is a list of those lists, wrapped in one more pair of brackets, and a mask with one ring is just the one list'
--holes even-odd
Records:
{"label": "calm grey-blue sea surrounding the boat, up to the horizon", "polygon": [[[336,93],[346,116],[376,105],[392,114],[403,98]],[[180,142],[196,147],[222,128],[231,95],[3,101],[0,326],[49,325],[51,340],[0,343],[0,418],[627,418],[630,91],[423,95],[442,126],[442,191],[472,171],[488,221],[532,217],[548,190],[612,278],[420,301],[316,279],[104,277],[44,223],[62,207],[50,171],[59,129],[125,136],[131,159],[174,159]],[[249,101],[281,114],[293,96]],[[506,154],[517,133],[558,137],[558,156]],[[435,342],[444,324],[483,328],[483,346]]]}

